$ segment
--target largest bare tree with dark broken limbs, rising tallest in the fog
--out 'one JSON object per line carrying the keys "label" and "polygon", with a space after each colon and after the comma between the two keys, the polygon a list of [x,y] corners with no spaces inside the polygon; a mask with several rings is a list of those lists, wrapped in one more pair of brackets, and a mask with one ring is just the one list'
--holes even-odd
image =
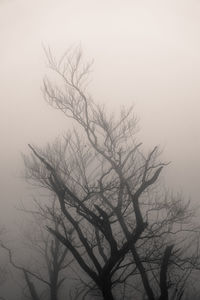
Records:
{"label": "largest bare tree with dark broken limbs, rising tallest in the fog", "polygon": [[167,300],[175,244],[183,246],[184,231],[194,232],[191,211],[182,199],[160,192],[157,182],[167,163],[158,147],[146,152],[137,142],[133,108],[108,116],[93,102],[86,89],[91,64],[81,51],[67,51],[59,61],[46,53],[63,85],[46,78],[45,99],[78,126],[46,149],[29,145],[32,154],[24,157],[26,178],[57,197],[73,239],[58,228],[48,230],[103,299],[117,299],[115,287],[119,294],[120,286],[139,276],[149,300]]}

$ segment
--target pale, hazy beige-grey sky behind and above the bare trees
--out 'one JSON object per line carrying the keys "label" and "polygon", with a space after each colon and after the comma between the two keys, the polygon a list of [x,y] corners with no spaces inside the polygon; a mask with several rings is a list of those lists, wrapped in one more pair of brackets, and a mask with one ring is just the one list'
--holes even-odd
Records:
{"label": "pale, hazy beige-grey sky behind and above the bare trees", "polygon": [[[108,107],[134,103],[141,139],[172,161],[166,183],[200,194],[199,0],[0,1],[1,215],[24,197],[20,151],[68,128],[42,98],[42,45],[59,57],[81,43],[90,90]],[[13,210],[12,210],[13,211]]]}

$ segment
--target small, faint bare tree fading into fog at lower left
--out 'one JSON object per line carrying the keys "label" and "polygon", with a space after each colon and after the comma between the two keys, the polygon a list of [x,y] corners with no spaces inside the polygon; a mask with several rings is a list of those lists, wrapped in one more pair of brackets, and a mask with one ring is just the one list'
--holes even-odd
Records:
{"label": "small, faint bare tree fading into fog at lower left", "polygon": [[[26,289],[28,289],[32,300],[41,300],[46,297],[51,300],[58,300],[58,292],[66,280],[63,271],[70,265],[72,258],[67,260],[67,256],[69,257],[68,248],[64,247],[55,235],[52,236],[43,227],[43,223],[45,220],[45,223],[51,224],[56,231],[63,228],[64,225],[61,222],[61,217],[56,213],[55,201],[52,201],[51,207],[41,206],[36,199],[34,202],[34,210],[23,208],[24,211],[31,214],[33,219],[31,231],[26,232],[25,246],[30,249],[29,252],[34,260],[29,260],[28,265],[23,266],[16,263],[13,251],[3,242],[1,242],[1,247],[7,251],[10,264],[22,273],[26,282]],[[69,238],[72,231],[65,228]],[[42,289],[38,288],[38,284],[43,286]],[[42,295],[46,296],[43,297]]]}

